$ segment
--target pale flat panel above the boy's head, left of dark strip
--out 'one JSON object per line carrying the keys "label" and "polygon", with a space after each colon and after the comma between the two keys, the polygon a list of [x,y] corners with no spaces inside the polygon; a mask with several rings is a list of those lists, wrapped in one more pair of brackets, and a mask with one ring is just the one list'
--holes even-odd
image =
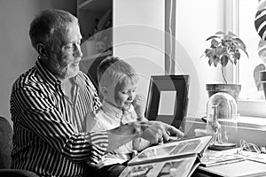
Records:
{"label": "pale flat panel above the boy's head, left of dark strip", "polygon": [[150,76],[164,74],[164,1],[113,1],[113,55],[141,75],[138,90],[147,94]]}

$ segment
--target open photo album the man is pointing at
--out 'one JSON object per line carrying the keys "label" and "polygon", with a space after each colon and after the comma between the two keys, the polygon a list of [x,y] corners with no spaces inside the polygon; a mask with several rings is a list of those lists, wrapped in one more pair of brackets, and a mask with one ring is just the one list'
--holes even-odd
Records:
{"label": "open photo album the man is pointing at", "polygon": [[190,177],[211,140],[204,135],[149,147],[129,161],[120,177]]}

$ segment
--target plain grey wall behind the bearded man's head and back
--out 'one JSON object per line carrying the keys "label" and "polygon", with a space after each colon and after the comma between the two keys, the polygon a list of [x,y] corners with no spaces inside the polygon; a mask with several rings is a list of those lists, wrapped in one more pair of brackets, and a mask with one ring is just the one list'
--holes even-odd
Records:
{"label": "plain grey wall behind the bearded man's head and back", "polygon": [[0,0],[0,115],[10,121],[12,83],[35,65],[37,57],[28,37],[30,22],[40,10],[51,7],[76,12],[75,0]]}

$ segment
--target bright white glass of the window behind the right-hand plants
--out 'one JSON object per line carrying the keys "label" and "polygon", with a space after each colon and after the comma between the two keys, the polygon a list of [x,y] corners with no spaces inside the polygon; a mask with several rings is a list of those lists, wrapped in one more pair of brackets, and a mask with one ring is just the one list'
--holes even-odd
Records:
{"label": "bright white glass of the window behind the right-hand plants", "polygon": [[[254,17],[258,1],[239,0],[239,37],[246,42],[249,58],[241,58],[239,67],[239,82],[242,84],[240,98],[264,99],[263,91],[256,88],[254,83],[254,67],[262,63],[257,54],[260,36],[254,27]],[[243,56],[242,56],[243,57]]]}

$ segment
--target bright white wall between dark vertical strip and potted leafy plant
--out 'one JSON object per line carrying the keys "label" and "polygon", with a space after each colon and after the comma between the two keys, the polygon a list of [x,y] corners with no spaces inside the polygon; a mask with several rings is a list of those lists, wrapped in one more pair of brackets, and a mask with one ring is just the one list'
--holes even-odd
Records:
{"label": "bright white wall between dark vertical strip and potted leafy plant", "polygon": [[176,73],[191,75],[188,115],[206,112],[206,83],[223,82],[221,70],[200,58],[209,45],[207,37],[224,28],[223,11],[223,0],[176,1]]}

